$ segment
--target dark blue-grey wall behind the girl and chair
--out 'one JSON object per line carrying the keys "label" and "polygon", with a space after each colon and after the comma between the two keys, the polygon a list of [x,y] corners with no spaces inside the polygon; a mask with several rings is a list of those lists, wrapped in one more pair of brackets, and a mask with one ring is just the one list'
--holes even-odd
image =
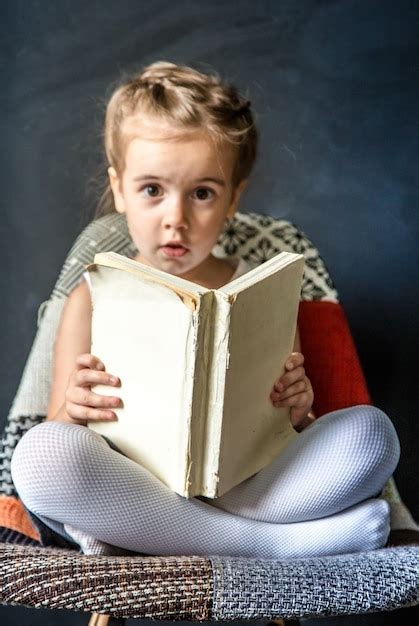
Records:
{"label": "dark blue-grey wall behind the girl and chair", "polygon": [[[374,402],[399,433],[396,479],[419,517],[418,20],[407,0],[3,0],[2,422],[37,308],[92,215],[112,85],[160,59],[214,68],[258,113],[261,153],[241,208],[289,219],[319,247]],[[2,609],[2,623],[18,611]]]}

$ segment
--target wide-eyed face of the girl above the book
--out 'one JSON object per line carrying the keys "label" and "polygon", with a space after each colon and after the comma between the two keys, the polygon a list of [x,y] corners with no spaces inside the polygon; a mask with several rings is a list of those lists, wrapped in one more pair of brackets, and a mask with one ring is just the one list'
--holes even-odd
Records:
{"label": "wide-eyed face of the girl above the book", "polygon": [[233,188],[234,159],[232,146],[217,151],[204,131],[174,136],[161,122],[141,122],[122,175],[108,170],[116,210],[126,213],[139,250],[136,260],[214,282],[219,261],[211,250],[245,187],[243,181]]}

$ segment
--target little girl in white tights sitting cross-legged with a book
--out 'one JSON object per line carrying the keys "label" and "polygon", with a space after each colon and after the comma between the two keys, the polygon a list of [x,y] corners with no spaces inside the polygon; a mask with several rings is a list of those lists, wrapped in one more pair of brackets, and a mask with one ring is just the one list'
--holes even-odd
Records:
{"label": "little girl in white tights sitting cross-legged with a book", "polygon": [[[126,215],[136,260],[209,288],[249,269],[212,254],[256,157],[250,103],[233,86],[216,75],[154,63],[113,93],[105,147],[105,200]],[[86,428],[89,421],[117,419],[113,409],[123,401],[118,372],[90,354],[90,323],[83,279],[62,314],[47,420],[25,434],[12,459],[23,503],[57,542],[88,553],[281,559],[385,545],[389,510],[378,496],[398,462],[395,430],[371,406],[315,421],[298,332],[270,399],[290,407],[299,436],[222,497],[188,500]],[[113,385],[115,396],[92,391],[98,383]],[[164,380],[161,385],[164,393]]]}

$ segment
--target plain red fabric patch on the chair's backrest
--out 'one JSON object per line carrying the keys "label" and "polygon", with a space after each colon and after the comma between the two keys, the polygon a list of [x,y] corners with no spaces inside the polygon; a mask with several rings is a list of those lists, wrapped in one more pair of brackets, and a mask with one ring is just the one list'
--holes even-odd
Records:
{"label": "plain red fabric patch on the chair's backrest", "polygon": [[316,415],[355,404],[371,404],[342,306],[302,301],[298,326],[307,376],[314,389]]}

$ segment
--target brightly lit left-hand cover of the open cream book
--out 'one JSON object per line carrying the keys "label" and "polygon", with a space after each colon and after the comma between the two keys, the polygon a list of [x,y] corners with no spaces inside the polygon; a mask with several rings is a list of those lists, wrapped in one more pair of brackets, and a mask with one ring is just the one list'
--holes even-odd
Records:
{"label": "brightly lit left-hand cover of the open cream book", "polygon": [[194,312],[172,290],[126,271],[97,266],[92,353],[121,379],[94,391],[119,395],[118,422],[90,423],[128,457],[183,493],[189,463]]}

